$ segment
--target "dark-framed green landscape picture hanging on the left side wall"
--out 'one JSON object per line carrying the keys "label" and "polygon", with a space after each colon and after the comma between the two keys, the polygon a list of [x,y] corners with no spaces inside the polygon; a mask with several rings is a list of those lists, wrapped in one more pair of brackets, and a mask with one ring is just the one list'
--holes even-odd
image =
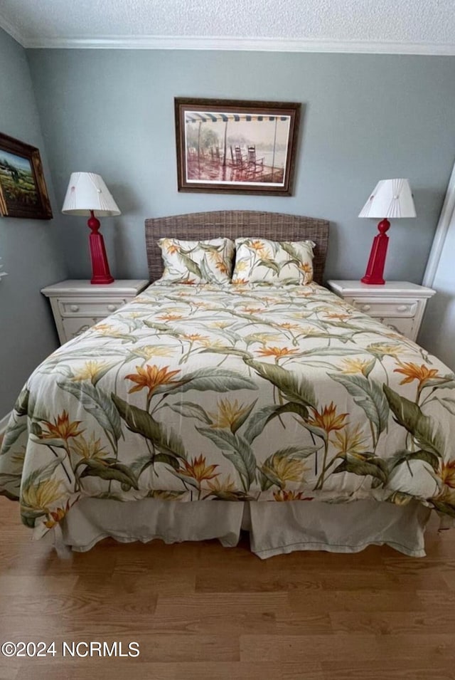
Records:
{"label": "dark-framed green landscape picture hanging on the left side wall", "polygon": [[40,152],[0,132],[0,214],[51,219]]}

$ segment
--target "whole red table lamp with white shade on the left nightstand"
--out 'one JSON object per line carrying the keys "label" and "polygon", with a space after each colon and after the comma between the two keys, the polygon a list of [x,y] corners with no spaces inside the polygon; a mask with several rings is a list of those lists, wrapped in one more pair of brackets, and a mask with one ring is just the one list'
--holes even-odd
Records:
{"label": "whole red table lamp with white shade on the left nightstand", "polygon": [[98,217],[120,215],[117,203],[101,175],[93,172],[72,172],[66,190],[62,212],[65,215],[88,215],[87,226],[90,234],[90,254],[92,256],[92,280],[90,283],[112,283],[107,262],[105,241],[99,233]]}

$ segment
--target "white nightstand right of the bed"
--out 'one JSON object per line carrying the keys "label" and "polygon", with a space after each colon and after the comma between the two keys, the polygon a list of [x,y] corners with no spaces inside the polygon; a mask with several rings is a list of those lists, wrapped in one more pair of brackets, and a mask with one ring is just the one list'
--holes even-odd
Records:
{"label": "white nightstand right of the bed", "polygon": [[386,281],[369,286],[360,281],[327,281],[328,288],[353,307],[385,323],[389,328],[415,340],[419,333],[432,288],[407,281]]}

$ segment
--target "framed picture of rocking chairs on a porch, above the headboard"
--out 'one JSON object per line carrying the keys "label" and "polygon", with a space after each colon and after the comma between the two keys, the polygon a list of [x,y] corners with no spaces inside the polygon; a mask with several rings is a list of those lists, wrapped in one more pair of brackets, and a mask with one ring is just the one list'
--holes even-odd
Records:
{"label": "framed picture of rocking chairs on a porch, above the headboard", "polygon": [[174,102],[179,192],[291,195],[300,104]]}

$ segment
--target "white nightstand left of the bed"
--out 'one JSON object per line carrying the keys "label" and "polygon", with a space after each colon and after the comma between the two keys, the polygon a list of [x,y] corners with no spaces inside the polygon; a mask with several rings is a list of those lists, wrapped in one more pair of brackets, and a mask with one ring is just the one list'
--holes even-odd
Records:
{"label": "white nightstand left of the bed", "polygon": [[62,281],[46,286],[60,342],[67,342],[117,311],[149,285],[149,281],[114,281],[95,285],[90,281]]}

